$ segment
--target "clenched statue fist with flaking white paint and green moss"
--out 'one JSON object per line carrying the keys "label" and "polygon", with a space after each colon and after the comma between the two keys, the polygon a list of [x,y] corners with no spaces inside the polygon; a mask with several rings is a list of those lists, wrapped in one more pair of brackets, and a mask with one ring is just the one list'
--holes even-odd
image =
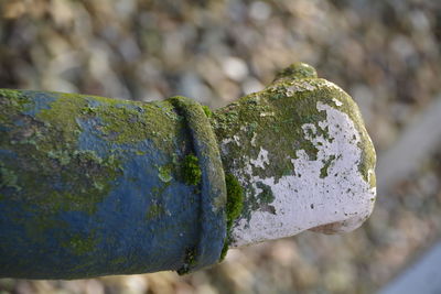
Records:
{"label": "clenched statue fist with flaking white paint and green moss", "polygon": [[232,246],[314,228],[349,231],[375,202],[375,150],[359,110],[305,64],[215,111],[225,168],[245,188]]}

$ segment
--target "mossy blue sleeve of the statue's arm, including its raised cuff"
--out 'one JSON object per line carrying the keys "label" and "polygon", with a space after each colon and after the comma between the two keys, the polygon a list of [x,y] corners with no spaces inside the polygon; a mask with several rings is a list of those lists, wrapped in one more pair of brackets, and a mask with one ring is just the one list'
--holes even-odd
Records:
{"label": "mossy blue sleeve of the statue's arm, including its raised cuff", "polygon": [[0,276],[217,262],[226,236],[217,145],[201,106],[173,104],[0,90]]}

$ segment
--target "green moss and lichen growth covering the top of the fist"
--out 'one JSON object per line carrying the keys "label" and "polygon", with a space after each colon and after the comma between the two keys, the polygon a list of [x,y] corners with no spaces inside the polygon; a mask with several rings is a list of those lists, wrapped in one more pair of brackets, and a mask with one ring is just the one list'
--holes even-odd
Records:
{"label": "green moss and lichen growth covering the top of the fist", "polygon": [[[336,106],[333,99],[341,101],[342,106]],[[322,137],[329,142],[334,140],[329,128],[321,127],[321,122],[326,120],[326,111],[318,110],[318,102],[337,108],[354,121],[361,134],[358,170],[364,179],[373,185],[374,174],[369,177],[368,173],[375,166],[375,151],[357,106],[347,94],[316,78],[312,67],[297,64],[282,70],[265,90],[213,112],[211,121],[222,144],[224,168],[238,173],[236,175],[244,183],[246,198],[240,218],[249,219],[251,211],[258,209],[275,211],[269,205],[271,188],[256,188],[250,174],[260,178],[273,177],[275,183],[282,176],[301,176],[292,161],[299,157],[298,151],[303,150],[310,161],[316,161],[318,148],[311,138]],[[308,131],[302,126],[311,126],[315,131]],[[249,163],[258,157],[260,150],[268,151],[270,164],[265,168]],[[323,164],[321,176],[324,177],[332,161]]]}

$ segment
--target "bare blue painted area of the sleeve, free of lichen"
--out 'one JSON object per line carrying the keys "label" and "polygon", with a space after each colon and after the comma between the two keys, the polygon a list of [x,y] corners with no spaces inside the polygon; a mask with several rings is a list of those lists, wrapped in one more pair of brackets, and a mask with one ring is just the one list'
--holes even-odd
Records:
{"label": "bare blue painted area of the sleeve, free of lichen", "polygon": [[[34,119],[57,99],[56,94],[26,91],[26,96],[34,104],[26,106],[23,115]],[[100,104],[93,97],[87,99],[92,107]],[[136,105],[121,101],[118,107]],[[21,118],[17,122],[18,128],[30,123]],[[209,177],[204,168],[209,159],[200,157],[205,181],[201,188],[174,177],[168,183],[159,177],[158,167],[172,162],[173,154],[183,157],[200,145],[189,134],[189,127],[178,128],[172,134],[174,152],[170,153],[158,149],[150,138],[125,144],[107,141],[97,128],[103,122],[95,117],[77,118],[76,122],[82,129],[76,150],[95,152],[103,159],[115,155],[121,173],[109,182],[111,188],[93,213],[76,209],[75,195],[65,198],[64,210],[34,205],[29,196],[32,193],[20,178],[20,190],[0,186],[0,277],[79,279],[179,270],[187,266],[186,253],[194,248],[203,249],[197,252],[194,269],[218,260],[226,233],[225,214],[223,209],[211,213],[213,187],[206,182]],[[9,129],[0,124],[0,131],[7,133]],[[19,155],[13,148],[0,144],[0,163],[12,166],[14,161],[26,160]],[[46,181],[52,187],[47,193],[72,190],[69,181],[55,172]],[[219,193],[215,192],[217,196]],[[160,211],[149,215],[155,207]],[[41,218],[51,226],[40,227],[36,220]],[[75,246],[66,246],[72,240],[92,241],[87,251],[78,253]]]}

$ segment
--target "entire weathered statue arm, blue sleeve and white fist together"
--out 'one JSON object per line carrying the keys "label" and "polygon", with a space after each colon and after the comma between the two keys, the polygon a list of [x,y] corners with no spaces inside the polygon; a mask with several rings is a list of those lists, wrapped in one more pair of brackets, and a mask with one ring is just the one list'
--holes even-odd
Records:
{"label": "entire weathered statue arm, blue sleeve and white fist together", "polygon": [[19,90],[0,106],[0,276],[186,273],[228,247],[353,230],[374,206],[358,108],[305,64],[214,112]]}

